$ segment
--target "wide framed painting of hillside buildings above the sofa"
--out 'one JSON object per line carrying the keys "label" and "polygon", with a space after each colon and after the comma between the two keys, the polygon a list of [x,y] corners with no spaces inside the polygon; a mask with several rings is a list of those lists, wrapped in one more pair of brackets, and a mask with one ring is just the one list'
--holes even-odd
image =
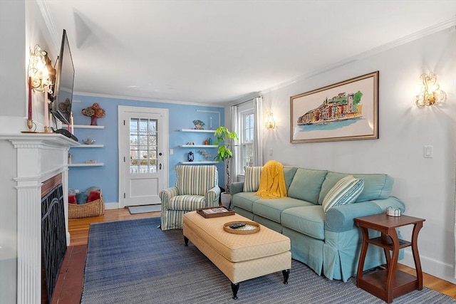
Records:
{"label": "wide framed painting of hillside buildings above the sofa", "polygon": [[378,70],[291,96],[291,143],[378,138]]}

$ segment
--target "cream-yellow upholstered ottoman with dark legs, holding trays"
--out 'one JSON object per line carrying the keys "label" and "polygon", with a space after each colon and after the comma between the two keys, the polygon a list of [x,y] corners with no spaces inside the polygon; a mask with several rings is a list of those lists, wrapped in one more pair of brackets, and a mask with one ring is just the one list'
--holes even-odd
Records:
{"label": "cream-yellow upholstered ottoman with dark legs, holding trays", "polygon": [[234,214],[206,219],[196,211],[183,218],[185,246],[188,240],[204,253],[232,282],[237,299],[239,282],[282,271],[288,283],[291,268],[290,239],[265,226],[255,234],[230,234],[223,225],[229,221],[250,221]]}

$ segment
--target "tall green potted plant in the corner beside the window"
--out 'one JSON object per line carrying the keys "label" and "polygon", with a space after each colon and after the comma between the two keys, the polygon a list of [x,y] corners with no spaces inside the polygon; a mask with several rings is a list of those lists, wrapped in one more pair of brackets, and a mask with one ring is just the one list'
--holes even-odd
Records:
{"label": "tall green potted plant in the corner beside the window", "polygon": [[217,156],[215,160],[217,162],[224,162],[225,168],[227,170],[227,185],[225,187],[225,192],[221,194],[222,204],[224,206],[229,206],[229,201],[231,200],[231,195],[229,194],[229,184],[230,184],[230,175],[229,175],[229,160],[233,157],[232,147],[236,140],[239,140],[236,132],[229,131],[227,127],[217,127],[214,132],[214,136],[217,137],[214,145],[219,145],[217,150]]}

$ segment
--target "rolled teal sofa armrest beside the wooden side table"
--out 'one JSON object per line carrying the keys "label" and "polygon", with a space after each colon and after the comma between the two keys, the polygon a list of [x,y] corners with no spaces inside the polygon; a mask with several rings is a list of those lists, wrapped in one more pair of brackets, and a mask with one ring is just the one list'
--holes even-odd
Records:
{"label": "rolled teal sofa armrest beside the wooden side table", "polygon": [[354,219],[361,216],[369,216],[386,212],[391,206],[405,211],[405,204],[395,196],[388,199],[375,199],[356,204],[335,206],[326,213],[325,229],[334,232],[348,231],[356,227]]}

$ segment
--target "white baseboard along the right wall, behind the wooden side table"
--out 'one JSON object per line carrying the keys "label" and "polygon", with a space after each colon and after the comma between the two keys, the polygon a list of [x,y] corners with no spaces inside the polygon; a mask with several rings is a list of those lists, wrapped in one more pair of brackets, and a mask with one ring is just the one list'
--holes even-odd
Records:
{"label": "white baseboard along the right wall, behind the wooden side table", "polygon": [[[427,256],[420,256],[420,261],[423,273],[427,273],[431,276],[456,284],[455,270],[452,264],[442,263],[441,261],[436,261],[435,259],[428,258]],[[410,249],[405,249],[404,258],[403,260],[400,260],[399,263],[415,269],[415,262],[413,261],[413,255]]]}

